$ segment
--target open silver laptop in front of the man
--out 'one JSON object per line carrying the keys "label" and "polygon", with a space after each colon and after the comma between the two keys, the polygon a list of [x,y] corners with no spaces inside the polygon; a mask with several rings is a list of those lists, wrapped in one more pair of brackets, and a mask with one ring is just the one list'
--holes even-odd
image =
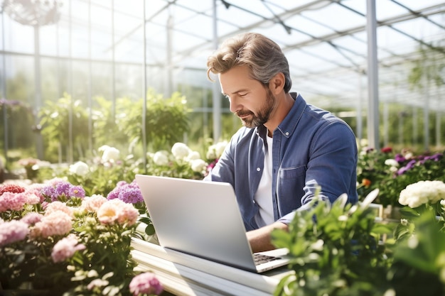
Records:
{"label": "open silver laptop in front of the man", "polygon": [[252,254],[230,183],[151,175],[136,182],[163,248],[256,273],[289,263],[282,248]]}

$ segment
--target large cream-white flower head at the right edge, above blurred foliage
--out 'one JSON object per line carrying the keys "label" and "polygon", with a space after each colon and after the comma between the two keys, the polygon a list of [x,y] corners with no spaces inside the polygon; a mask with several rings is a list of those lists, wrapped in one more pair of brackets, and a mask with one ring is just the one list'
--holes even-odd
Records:
{"label": "large cream-white flower head at the right edge, above blurred foliage", "polygon": [[445,184],[441,181],[419,181],[408,185],[400,192],[399,202],[411,208],[422,204],[434,204],[445,199]]}

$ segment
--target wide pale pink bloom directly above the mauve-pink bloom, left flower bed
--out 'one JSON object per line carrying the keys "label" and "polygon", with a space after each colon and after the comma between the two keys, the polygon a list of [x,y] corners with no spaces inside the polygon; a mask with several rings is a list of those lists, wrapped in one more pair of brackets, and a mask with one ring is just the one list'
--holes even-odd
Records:
{"label": "wide pale pink bloom directly above the mauve-pink bloom, left flower bed", "polygon": [[73,228],[73,221],[71,216],[62,212],[55,211],[47,216],[43,216],[42,220],[31,229],[30,236],[32,238],[48,236],[63,236],[68,234]]}

